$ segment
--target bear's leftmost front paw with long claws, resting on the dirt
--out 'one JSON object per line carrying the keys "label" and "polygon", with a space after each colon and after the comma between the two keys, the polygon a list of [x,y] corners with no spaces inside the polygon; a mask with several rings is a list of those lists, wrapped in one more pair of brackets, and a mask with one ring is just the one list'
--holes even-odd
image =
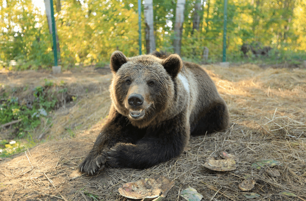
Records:
{"label": "bear's leftmost front paw with long claws, resting on the dirt", "polygon": [[81,173],[86,173],[89,175],[93,175],[98,170],[101,170],[105,167],[105,154],[91,154],[84,159],[84,161],[80,164],[79,170]]}

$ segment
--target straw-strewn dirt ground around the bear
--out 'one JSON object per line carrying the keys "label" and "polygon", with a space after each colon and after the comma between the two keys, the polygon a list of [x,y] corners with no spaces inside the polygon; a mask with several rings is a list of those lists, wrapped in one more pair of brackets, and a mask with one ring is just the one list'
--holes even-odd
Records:
{"label": "straw-strewn dirt ground around the bear", "polygon": [[[50,71],[0,73],[11,87],[38,85],[44,79],[60,83],[77,95],[50,114],[44,143],[13,158],[0,159],[0,200],[128,200],[118,192],[123,184],[156,175],[175,181],[164,200],[184,200],[180,193],[193,187],[202,200],[306,200],[306,69],[260,68],[240,65],[222,68],[203,65],[227,102],[232,124],[224,132],[192,137],[181,156],[149,169],[106,167],[94,176],[78,173],[78,164],[90,151],[110,107],[109,69],[75,69],[60,75]],[[37,129],[34,137],[42,130]],[[48,140],[46,140],[48,139]],[[218,172],[202,166],[221,151],[235,156],[237,168]],[[274,159],[276,166],[251,168],[254,162]],[[272,177],[267,170],[278,170]],[[238,188],[251,177],[255,187]],[[286,196],[288,191],[295,196]],[[131,199],[129,199],[131,200]]]}

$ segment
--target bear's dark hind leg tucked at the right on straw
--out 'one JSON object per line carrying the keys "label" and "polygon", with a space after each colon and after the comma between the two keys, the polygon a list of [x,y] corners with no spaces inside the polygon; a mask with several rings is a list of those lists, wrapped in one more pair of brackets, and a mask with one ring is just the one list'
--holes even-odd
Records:
{"label": "bear's dark hind leg tucked at the right on straw", "polygon": [[198,114],[198,118],[191,123],[191,135],[199,136],[206,133],[221,131],[230,124],[229,112],[225,102],[215,102],[211,107]]}

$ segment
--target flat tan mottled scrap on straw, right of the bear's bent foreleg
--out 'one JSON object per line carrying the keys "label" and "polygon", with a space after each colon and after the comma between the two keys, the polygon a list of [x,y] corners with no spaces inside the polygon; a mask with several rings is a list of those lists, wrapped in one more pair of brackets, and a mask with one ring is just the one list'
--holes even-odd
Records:
{"label": "flat tan mottled scrap on straw, right of the bear's bent foreleg", "polygon": [[224,160],[215,160],[213,158],[206,160],[206,162],[202,164],[202,166],[211,170],[225,172],[236,169],[236,162],[232,158],[227,158]]}

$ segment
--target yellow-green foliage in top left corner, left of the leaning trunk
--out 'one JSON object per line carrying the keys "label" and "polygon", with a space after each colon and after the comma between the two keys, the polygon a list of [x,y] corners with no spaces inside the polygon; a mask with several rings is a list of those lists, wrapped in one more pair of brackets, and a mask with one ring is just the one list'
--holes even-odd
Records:
{"label": "yellow-green foliage in top left corner, left of the leaning trunk", "polygon": [[31,0],[6,0],[0,5],[0,60],[6,66],[18,61],[18,69],[37,69],[52,64],[51,36],[47,19]]}

